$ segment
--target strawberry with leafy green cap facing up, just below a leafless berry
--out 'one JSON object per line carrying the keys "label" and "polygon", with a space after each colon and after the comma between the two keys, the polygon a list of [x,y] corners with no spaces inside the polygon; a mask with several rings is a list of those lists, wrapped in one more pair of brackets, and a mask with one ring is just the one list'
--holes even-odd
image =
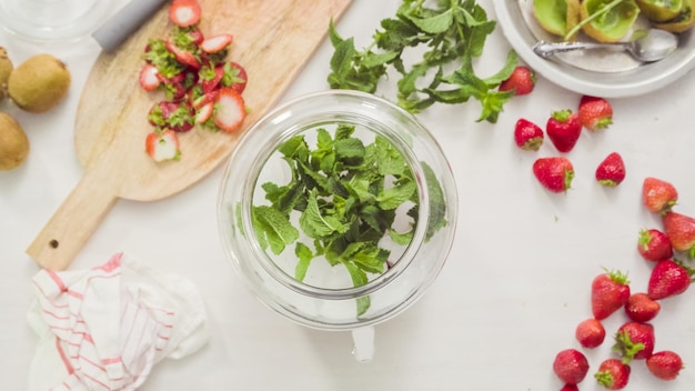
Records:
{"label": "strawberry with leafy green cap facing up, just below a leafless berry", "polygon": [[632,360],[646,360],[654,352],[654,327],[649,323],[627,322],[615,333],[616,352],[624,363]]}

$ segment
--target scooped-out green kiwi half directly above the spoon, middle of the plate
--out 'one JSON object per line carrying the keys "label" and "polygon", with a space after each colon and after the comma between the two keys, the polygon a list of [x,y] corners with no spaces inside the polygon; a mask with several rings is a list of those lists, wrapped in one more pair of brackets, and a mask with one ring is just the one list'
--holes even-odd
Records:
{"label": "scooped-out green kiwi half directly above the spoon, middle of the plate", "polygon": [[[607,6],[612,4],[611,8]],[[584,0],[581,6],[582,29],[600,42],[617,42],[625,37],[639,16],[634,0]]]}

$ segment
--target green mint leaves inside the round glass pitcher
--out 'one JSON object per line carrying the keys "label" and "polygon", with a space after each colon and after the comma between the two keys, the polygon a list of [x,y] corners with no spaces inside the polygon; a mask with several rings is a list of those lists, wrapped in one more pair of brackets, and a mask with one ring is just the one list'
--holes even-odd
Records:
{"label": "green mint leaves inside the round glass pitcher", "polygon": [[[278,152],[291,170],[291,180],[261,184],[270,204],[254,204],[254,233],[264,250],[281,254],[294,247],[294,278],[303,281],[311,262],[323,257],[329,264],[346,268],[353,285],[370,281],[389,268],[391,251],[380,245],[384,238],[407,245],[419,220],[417,184],[403,154],[376,136],[364,144],[353,126],[338,124],[333,134],[316,130],[316,146],[305,134],[283,142]],[[434,171],[423,163],[429,183],[430,220],[426,233],[446,224],[446,205]],[[406,205],[409,229],[396,232],[396,209]],[[299,222],[299,228],[293,225]],[[370,298],[357,299],[357,315],[370,307]]]}

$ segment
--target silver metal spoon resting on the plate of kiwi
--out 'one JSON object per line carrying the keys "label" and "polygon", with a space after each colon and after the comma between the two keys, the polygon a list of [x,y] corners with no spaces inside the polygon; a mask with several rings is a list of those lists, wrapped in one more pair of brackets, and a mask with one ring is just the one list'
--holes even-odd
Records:
{"label": "silver metal spoon resting on the plate of kiwi", "polygon": [[547,58],[555,53],[580,49],[617,49],[626,50],[635,59],[644,62],[654,62],[666,58],[678,47],[678,38],[665,30],[643,30],[644,34],[629,42],[546,42],[538,41],[533,51]]}

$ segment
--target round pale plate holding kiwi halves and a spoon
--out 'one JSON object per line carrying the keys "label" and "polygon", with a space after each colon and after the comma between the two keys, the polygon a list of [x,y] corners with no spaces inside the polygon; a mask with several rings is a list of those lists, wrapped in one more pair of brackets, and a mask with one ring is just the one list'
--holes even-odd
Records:
{"label": "round pale plate holding kiwi halves and a spoon", "polygon": [[543,78],[578,93],[603,98],[644,94],[674,82],[695,67],[693,30],[679,36],[678,49],[673,54],[653,63],[639,63],[627,53],[607,50],[575,51],[543,59],[533,52],[534,43],[560,38],[543,31],[535,21],[533,0],[494,0],[493,4],[504,36],[524,62]]}

